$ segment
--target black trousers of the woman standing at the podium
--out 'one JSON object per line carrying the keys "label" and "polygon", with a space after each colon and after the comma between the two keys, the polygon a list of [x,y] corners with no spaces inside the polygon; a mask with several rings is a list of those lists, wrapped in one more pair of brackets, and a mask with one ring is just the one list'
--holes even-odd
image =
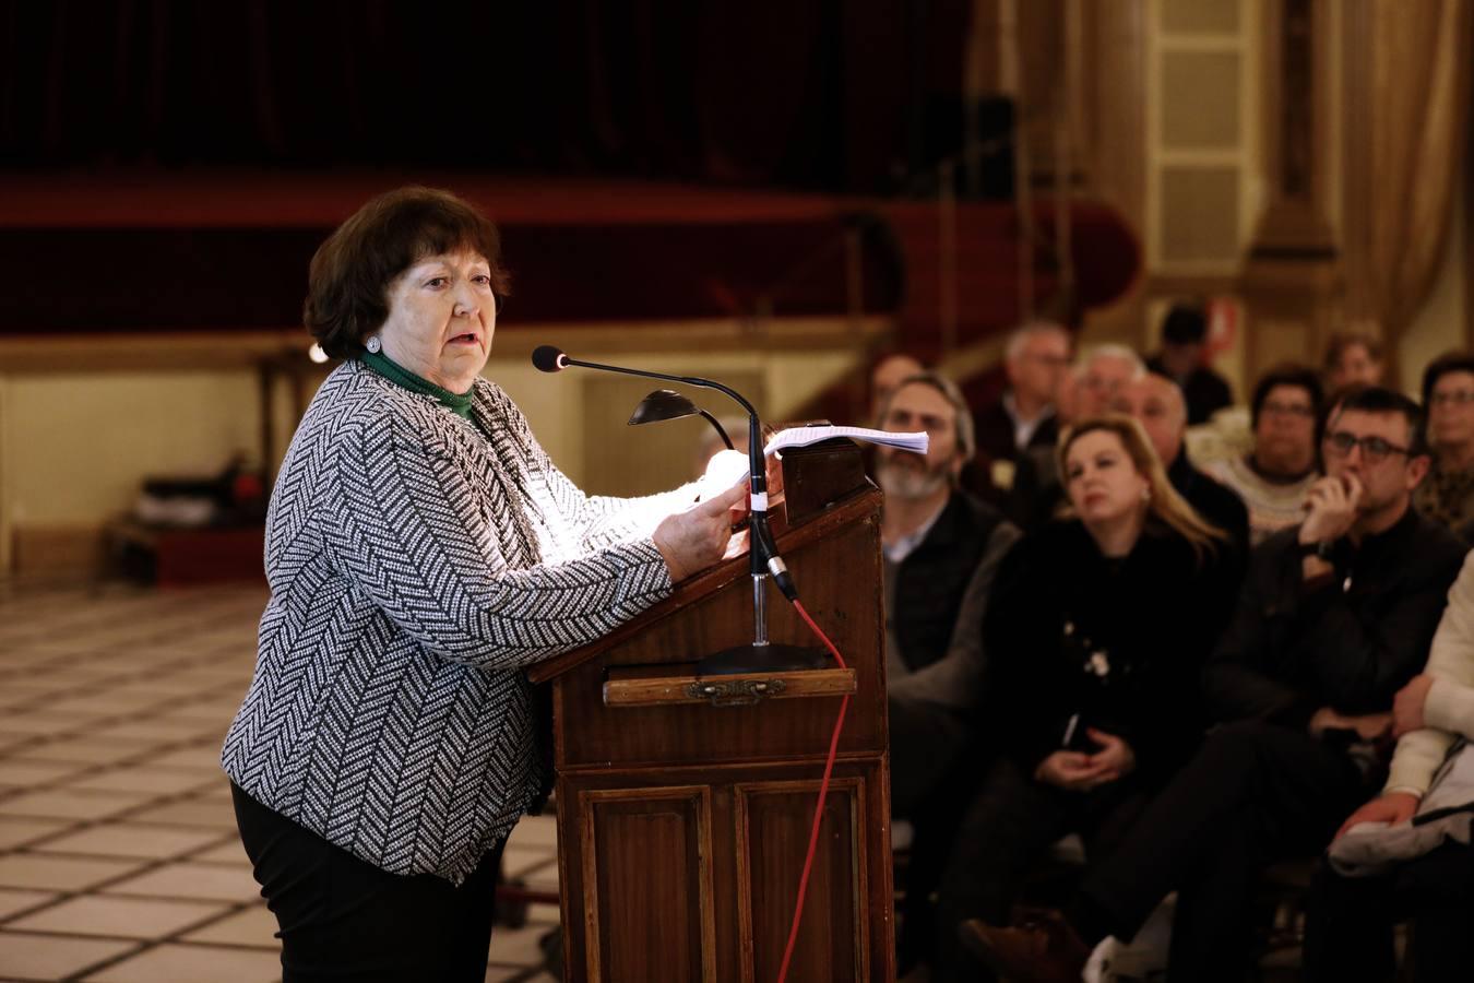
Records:
{"label": "black trousers of the woman standing at the podium", "polygon": [[276,915],[283,983],[481,983],[501,844],[458,887],[367,864],[231,784],[240,840]]}

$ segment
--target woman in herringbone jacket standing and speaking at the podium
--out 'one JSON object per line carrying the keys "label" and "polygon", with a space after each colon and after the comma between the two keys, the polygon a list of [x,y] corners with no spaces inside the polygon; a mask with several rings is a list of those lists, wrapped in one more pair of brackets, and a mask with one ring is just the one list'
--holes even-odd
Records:
{"label": "woman in herringbone jacket standing and speaking at the podium", "polygon": [[501,847],[551,778],[520,671],[722,559],[746,507],[581,492],[481,377],[506,290],[495,225],[423,187],[312,258],[304,320],[345,361],[277,477],[221,755],[286,983],[485,977]]}

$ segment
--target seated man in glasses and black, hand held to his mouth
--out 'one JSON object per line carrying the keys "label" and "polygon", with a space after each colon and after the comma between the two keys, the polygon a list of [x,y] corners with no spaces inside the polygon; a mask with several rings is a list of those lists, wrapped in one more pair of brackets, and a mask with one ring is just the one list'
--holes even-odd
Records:
{"label": "seated man in glasses and black, hand held to his mouth", "polygon": [[968,923],[964,939],[1001,974],[1077,979],[1101,939],[1131,939],[1176,890],[1169,980],[1244,979],[1260,871],[1322,850],[1366,799],[1393,696],[1425,662],[1464,557],[1412,508],[1428,470],[1419,416],[1387,389],[1346,399],[1304,522],[1254,551],[1204,672],[1225,724],[1091,865],[1066,912],[1026,928]]}

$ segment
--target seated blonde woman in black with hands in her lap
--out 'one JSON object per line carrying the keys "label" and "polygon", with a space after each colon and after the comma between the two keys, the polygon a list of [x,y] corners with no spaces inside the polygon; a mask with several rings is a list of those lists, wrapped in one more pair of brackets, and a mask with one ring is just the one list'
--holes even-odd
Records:
{"label": "seated blonde woman in black with hands in her lap", "polygon": [[939,896],[939,970],[964,918],[1001,921],[1054,840],[1106,853],[1203,731],[1203,659],[1232,606],[1223,534],[1173,491],[1141,426],[1088,417],[1060,467],[1076,517],[1030,532],[993,582],[989,725],[1005,752],[973,799]]}

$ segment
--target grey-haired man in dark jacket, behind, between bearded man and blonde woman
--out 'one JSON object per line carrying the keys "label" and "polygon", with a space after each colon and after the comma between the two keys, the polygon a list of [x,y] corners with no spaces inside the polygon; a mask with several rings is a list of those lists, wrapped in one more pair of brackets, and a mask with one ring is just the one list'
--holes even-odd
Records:
{"label": "grey-haired man in dark jacket, behind, between bearded man and blonde woman", "polygon": [[1013,488],[1014,460],[1023,451],[1054,447],[1054,404],[1069,365],[1070,333],[1058,324],[1032,321],[1008,339],[1008,388],[973,414],[979,464],[999,491]]}

